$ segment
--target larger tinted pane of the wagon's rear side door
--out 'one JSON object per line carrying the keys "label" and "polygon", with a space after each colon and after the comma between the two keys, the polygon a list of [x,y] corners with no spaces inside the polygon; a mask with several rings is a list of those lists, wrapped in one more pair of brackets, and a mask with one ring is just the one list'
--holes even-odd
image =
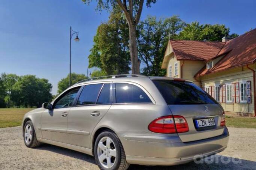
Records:
{"label": "larger tinted pane of the wagon's rear side door", "polygon": [[77,105],[95,104],[101,87],[102,84],[90,84],[84,86],[84,89],[78,98]]}

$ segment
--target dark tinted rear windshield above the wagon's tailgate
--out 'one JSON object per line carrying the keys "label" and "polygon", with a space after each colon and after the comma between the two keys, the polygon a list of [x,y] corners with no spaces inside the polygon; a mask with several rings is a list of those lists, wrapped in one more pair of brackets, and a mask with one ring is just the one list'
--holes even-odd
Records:
{"label": "dark tinted rear windshield above the wagon's tailgate", "polygon": [[187,81],[152,80],[168,105],[217,104],[208,93]]}

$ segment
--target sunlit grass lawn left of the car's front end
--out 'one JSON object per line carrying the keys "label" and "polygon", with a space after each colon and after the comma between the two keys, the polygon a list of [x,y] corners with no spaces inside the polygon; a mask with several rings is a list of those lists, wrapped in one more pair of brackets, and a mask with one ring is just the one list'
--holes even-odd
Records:
{"label": "sunlit grass lawn left of the car's front end", "polygon": [[20,126],[25,113],[35,108],[21,109],[1,109],[0,108],[0,128]]}

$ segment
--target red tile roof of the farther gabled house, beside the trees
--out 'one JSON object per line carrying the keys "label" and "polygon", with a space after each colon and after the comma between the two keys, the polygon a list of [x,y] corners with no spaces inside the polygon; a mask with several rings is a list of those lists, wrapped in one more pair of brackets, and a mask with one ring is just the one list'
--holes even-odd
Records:
{"label": "red tile roof of the farther gabled house, beside the trees", "polygon": [[224,42],[170,40],[177,60],[209,60],[217,56]]}

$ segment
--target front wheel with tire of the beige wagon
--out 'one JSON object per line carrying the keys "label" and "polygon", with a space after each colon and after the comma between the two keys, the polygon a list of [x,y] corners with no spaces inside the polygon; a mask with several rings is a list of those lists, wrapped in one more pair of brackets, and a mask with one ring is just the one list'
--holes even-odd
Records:
{"label": "front wheel with tire of the beige wagon", "polygon": [[32,121],[27,121],[23,128],[24,143],[29,148],[38,147],[41,143],[36,139],[36,132]]}

